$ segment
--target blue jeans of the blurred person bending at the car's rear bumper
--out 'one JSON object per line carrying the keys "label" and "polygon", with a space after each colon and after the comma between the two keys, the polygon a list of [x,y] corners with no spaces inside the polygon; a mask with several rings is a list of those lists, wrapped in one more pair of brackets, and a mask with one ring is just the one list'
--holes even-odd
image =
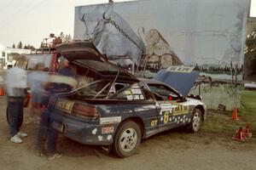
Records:
{"label": "blue jeans of the blurred person bending at the car's rear bumper", "polygon": [[37,150],[43,152],[44,143],[47,140],[47,152],[54,154],[56,151],[56,142],[58,133],[52,127],[52,120],[50,118],[49,110],[45,109],[41,113],[41,121],[38,127],[38,141]]}

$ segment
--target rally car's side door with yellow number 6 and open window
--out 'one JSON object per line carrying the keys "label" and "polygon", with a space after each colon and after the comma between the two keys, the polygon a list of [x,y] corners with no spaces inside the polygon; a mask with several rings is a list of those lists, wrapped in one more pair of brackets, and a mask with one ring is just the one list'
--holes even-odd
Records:
{"label": "rally car's side door with yellow number 6 and open window", "polygon": [[156,99],[159,131],[179,127],[189,122],[189,105],[180,100],[177,92],[165,84],[148,84]]}

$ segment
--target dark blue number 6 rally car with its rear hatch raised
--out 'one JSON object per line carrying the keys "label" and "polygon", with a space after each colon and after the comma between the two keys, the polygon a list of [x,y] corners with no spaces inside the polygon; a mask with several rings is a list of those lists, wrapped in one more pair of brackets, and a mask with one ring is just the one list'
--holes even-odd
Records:
{"label": "dark blue number 6 rally car with its rear hatch raised", "polygon": [[197,132],[206,120],[199,96],[185,97],[163,82],[138,79],[108,62],[91,42],[56,47],[84,78],[79,88],[50,99],[53,127],[82,144],[133,155],[141,139],[174,127]]}

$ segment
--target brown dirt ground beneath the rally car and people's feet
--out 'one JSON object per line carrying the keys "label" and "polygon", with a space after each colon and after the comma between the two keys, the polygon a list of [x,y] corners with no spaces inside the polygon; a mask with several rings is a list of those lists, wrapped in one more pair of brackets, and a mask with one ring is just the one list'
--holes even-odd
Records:
{"label": "brown dirt ground beneath the rally car and people's feet", "polygon": [[[79,144],[60,136],[59,159],[48,161],[36,156],[36,124],[24,124],[28,133],[22,144],[9,141],[9,127],[5,117],[6,101],[0,97],[0,169],[256,169],[256,139],[245,143],[232,136],[218,133],[187,133],[175,129],[143,140],[137,154],[125,159],[103,154],[96,147]],[[27,111],[26,111],[27,112]],[[211,114],[211,113],[210,113]],[[212,113],[213,114],[213,113]],[[26,120],[27,113],[25,115]],[[212,117],[212,116],[211,116]]]}

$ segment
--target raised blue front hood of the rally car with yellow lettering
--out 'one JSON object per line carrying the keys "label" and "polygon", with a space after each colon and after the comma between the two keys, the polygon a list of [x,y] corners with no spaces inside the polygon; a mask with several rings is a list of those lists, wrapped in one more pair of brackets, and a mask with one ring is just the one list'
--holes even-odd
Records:
{"label": "raised blue front hood of the rally car with yellow lettering", "polygon": [[172,66],[160,70],[153,79],[165,82],[183,96],[187,96],[200,73],[199,71],[193,71],[193,69],[194,67]]}

